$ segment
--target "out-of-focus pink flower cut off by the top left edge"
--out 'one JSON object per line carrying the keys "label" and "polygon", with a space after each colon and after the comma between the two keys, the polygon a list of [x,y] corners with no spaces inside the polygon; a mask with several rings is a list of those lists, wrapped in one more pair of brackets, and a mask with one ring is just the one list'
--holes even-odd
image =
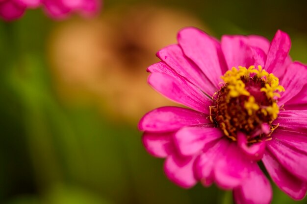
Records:
{"label": "out-of-focus pink flower cut off by the top left edge", "polygon": [[21,18],[26,9],[43,6],[53,19],[64,19],[77,12],[92,16],[99,12],[101,0],[0,0],[0,17],[6,21]]}

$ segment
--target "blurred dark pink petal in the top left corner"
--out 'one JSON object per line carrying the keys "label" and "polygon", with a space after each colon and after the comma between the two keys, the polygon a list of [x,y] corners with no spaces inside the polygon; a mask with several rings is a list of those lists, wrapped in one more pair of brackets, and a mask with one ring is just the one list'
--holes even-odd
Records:
{"label": "blurred dark pink petal in the top left corner", "polygon": [[16,20],[22,17],[26,7],[18,5],[12,1],[0,3],[0,17],[6,21]]}

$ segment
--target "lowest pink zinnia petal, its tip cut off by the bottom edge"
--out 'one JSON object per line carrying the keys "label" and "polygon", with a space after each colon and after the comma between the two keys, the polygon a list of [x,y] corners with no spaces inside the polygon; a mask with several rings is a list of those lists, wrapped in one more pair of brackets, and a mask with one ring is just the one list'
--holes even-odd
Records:
{"label": "lowest pink zinnia petal, its tip cut off by the bottom edge", "polygon": [[249,177],[233,190],[236,204],[270,204],[272,187],[256,163],[250,165]]}

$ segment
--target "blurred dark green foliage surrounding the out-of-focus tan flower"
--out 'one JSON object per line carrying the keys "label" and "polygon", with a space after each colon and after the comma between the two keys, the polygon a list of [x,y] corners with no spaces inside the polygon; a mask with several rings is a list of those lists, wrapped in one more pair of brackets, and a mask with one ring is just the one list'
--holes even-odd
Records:
{"label": "blurred dark green foliage surrounding the out-of-focus tan flower", "polygon": [[[104,10],[139,2],[153,3],[105,0]],[[216,37],[255,33],[272,38],[282,29],[291,36],[293,59],[307,63],[306,2],[155,4],[193,13]],[[0,23],[0,203],[231,204],[231,193],[215,186],[185,190],[168,181],[162,159],[142,147],[136,124],[115,123],[95,107],[67,107],[59,101],[46,59],[49,33],[57,23],[40,10]],[[273,204],[291,203],[274,186]]]}

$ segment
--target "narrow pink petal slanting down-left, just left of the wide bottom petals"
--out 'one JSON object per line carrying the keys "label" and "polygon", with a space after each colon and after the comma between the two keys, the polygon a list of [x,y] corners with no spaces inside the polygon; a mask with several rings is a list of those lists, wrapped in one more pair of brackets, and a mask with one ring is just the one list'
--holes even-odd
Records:
{"label": "narrow pink petal slanting down-left, just left of the wide bottom petals", "polygon": [[207,148],[195,161],[195,176],[201,180],[203,185],[209,186],[214,181],[215,163],[225,156],[225,152],[230,145],[228,139],[221,139],[212,147]]}

